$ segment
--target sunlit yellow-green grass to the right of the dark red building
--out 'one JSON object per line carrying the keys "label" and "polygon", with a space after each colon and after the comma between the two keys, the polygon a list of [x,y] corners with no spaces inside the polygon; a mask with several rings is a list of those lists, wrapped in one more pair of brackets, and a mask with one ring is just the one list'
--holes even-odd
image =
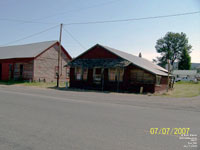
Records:
{"label": "sunlit yellow-green grass to the right of the dark red building", "polygon": [[163,93],[168,97],[194,97],[200,95],[200,82],[177,82],[174,89],[168,93]]}

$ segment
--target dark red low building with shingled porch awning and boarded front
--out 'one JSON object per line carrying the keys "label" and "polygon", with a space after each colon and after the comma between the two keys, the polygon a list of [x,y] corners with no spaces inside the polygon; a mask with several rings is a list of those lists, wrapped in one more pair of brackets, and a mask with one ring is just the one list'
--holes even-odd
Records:
{"label": "dark red low building with shingled porch awning and boarded front", "polygon": [[147,59],[95,45],[70,66],[70,87],[109,91],[151,92],[167,88],[168,72]]}

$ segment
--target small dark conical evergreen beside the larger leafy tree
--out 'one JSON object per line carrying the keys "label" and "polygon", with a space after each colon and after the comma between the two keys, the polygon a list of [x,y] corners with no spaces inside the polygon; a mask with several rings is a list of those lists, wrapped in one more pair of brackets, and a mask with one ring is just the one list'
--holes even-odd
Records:
{"label": "small dark conical evergreen beside the larger leafy tree", "polygon": [[181,54],[179,63],[178,63],[178,69],[179,70],[190,70],[190,68],[191,68],[191,57],[190,57],[187,49],[184,49]]}

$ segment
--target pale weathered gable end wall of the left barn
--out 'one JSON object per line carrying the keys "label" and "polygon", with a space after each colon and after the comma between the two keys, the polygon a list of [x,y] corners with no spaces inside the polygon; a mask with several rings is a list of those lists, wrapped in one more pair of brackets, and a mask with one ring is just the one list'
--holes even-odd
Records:
{"label": "pale weathered gable end wall of the left barn", "polygon": [[[34,60],[34,81],[55,82],[57,80],[56,72],[58,66],[58,50],[59,46],[54,45]],[[64,50],[64,49],[63,49]],[[60,81],[66,81],[67,71],[64,65],[69,62],[69,58],[62,51],[60,62]]]}

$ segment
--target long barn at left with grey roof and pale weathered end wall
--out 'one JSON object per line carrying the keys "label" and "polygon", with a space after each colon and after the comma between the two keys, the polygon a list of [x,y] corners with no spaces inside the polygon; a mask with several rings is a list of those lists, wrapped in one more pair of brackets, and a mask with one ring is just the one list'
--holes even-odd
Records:
{"label": "long barn at left with grey roof and pale weathered end wall", "polygon": [[[58,41],[0,47],[0,80],[56,81],[58,71]],[[61,46],[61,80],[66,80],[63,65],[71,56]]]}

